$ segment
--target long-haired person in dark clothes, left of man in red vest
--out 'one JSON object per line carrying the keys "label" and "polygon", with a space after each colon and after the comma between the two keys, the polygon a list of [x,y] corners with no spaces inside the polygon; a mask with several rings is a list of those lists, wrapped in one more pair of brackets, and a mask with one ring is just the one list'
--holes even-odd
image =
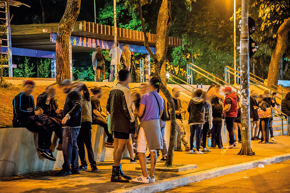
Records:
{"label": "long-haired person in dark clothes, left of man in red vest", "polygon": [[215,149],[215,144],[218,143],[218,148],[222,146],[222,105],[219,103],[219,98],[215,96],[211,102],[213,110],[213,128],[211,129],[211,149]]}

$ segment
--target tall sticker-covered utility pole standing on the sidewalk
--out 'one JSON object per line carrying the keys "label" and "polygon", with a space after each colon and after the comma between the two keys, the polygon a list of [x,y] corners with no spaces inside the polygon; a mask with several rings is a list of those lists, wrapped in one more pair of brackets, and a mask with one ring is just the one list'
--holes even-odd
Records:
{"label": "tall sticker-covered utility pole standing on the sidewalk", "polygon": [[242,148],[238,155],[255,155],[251,149],[250,134],[250,58],[249,58],[249,1],[242,0],[242,28],[241,28],[241,118],[242,118]]}

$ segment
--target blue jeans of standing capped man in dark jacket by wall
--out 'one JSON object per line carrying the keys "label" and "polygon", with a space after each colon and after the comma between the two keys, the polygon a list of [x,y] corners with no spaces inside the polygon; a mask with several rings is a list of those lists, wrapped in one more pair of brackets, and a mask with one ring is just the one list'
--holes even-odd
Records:
{"label": "blue jeans of standing capped man in dark jacket by wall", "polygon": [[[62,153],[64,155],[64,164],[62,168],[69,171],[79,170],[79,152],[77,149],[77,136],[79,128],[65,127],[62,141]],[[71,165],[71,167],[70,167]]]}

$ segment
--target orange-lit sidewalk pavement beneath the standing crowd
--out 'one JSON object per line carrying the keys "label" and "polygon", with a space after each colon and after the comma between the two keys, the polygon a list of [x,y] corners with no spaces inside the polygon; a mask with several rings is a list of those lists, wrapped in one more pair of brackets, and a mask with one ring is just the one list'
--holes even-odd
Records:
{"label": "orange-lit sidewalk pavement beneath the standing crowd", "polygon": [[[211,149],[212,152],[205,152],[203,155],[189,154],[187,152],[174,152],[173,164],[197,164],[197,168],[184,172],[155,172],[155,179],[162,180],[171,177],[183,177],[205,170],[211,171],[216,167],[230,166],[248,162],[251,160],[261,159],[289,153],[290,137],[277,136],[275,142],[269,144],[258,144],[258,141],[252,142],[252,150],[255,156],[237,155],[240,151],[241,144],[235,149]],[[224,147],[227,144],[224,144]],[[122,168],[127,175],[137,177],[141,175],[140,170],[135,170],[137,164],[129,164],[129,159],[122,160]],[[79,175],[70,175],[66,177],[56,177],[57,170],[51,172],[33,173],[30,175],[5,177],[1,178],[0,192],[98,192],[105,193],[114,190],[130,188],[140,185],[140,183],[112,183],[110,175],[113,162],[103,162],[97,164],[99,173],[88,171],[81,172]],[[90,168],[90,167],[88,167]],[[194,174],[193,174],[194,175]]]}

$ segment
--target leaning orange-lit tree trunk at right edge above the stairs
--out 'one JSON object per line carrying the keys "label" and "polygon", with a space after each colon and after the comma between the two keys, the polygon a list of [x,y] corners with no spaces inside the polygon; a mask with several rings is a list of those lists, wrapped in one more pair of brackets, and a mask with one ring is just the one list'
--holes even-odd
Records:
{"label": "leaning orange-lit tree trunk at right edge above the stairs", "polygon": [[278,86],[280,61],[289,46],[288,32],[290,31],[290,17],[282,23],[277,33],[277,44],[271,56],[268,73],[268,86]]}

